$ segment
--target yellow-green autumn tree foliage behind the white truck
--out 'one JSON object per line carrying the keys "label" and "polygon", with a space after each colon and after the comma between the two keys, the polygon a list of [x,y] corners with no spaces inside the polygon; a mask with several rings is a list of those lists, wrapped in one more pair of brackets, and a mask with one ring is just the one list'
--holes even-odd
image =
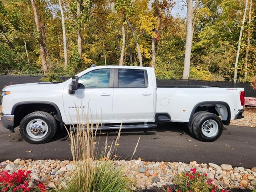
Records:
{"label": "yellow-green autumn tree foliage behind the white truck", "polygon": [[[152,64],[152,38],[156,38],[157,78],[182,78],[186,42],[186,19],[171,15],[173,0],[63,0],[68,46],[68,66],[64,68],[62,19],[56,0],[35,0],[46,60],[50,71],[45,80],[71,76],[88,68],[119,63],[122,25],[126,43],[124,64],[138,66],[138,53],[132,24],[142,54],[143,66]],[[77,3],[80,3],[80,16]],[[190,79],[232,80],[244,4],[234,0],[202,0],[194,14]],[[185,8],[186,9],[186,8]],[[158,12],[159,10],[160,12]],[[252,81],[256,75],[256,4],[252,4],[252,22],[248,14],[238,62],[238,80]],[[160,18],[160,24],[158,24]],[[156,30],[158,29],[158,31]],[[245,54],[250,29],[247,78]],[[78,54],[78,30],[82,35],[82,58]],[[27,0],[0,1],[0,65],[6,72],[42,73],[39,34]],[[28,58],[24,43],[26,42]]]}

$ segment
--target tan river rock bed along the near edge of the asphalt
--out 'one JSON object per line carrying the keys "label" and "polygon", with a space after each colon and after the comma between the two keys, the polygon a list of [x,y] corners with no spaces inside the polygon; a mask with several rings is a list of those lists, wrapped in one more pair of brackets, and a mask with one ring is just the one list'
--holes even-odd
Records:
{"label": "tan river rock bed along the near edge of the asphalt", "polygon": [[[31,181],[42,182],[47,188],[58,188],[61,190],[69,182],[73,171],[76,169],[73,161],[59,160],[22,160],[14,162],[6,161],[0,163],[0,171],[14,172],[19,169],[30,170]],[[18,162],[18,163],[17,163]],[[22,162],[22,164],[20,164]],[[184,171],[196,168],[201,173],[213,179],[216,186],[220,188],[240,188],[254,190],[256,188],[256,168],[232,167],[222,164],[198,164],[190,162],[144,162],[142,160],[116,160],[114,165],[121,169],[126,175],[136,180],[136,187],[140,189],[152,188],[161,191],[162,186],[172,186],[174,176]],[[156,186],[156,188],[153,188]],[[150,191],[150,190],[148,190]]]}

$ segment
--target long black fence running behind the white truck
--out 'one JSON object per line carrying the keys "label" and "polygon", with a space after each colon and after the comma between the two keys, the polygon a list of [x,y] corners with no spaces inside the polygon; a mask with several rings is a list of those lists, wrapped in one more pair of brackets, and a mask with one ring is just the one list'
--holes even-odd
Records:
{"label": "long black fence running behind the white truck", "polygon": [[[0,89],[7,85],[35,83],[40,82],[42,76],[0,76]],[[69,77],[60,77],[61,80],[67,80]],[[225,81],[200,81],[200,80],[156,80],[158,87],[173,87],[173,86],[218,86],[218,87],[242,87],[245,89],[246,97],[256,97],[256,90],[250,86],[250,83],[242,82],[225,82]]]}

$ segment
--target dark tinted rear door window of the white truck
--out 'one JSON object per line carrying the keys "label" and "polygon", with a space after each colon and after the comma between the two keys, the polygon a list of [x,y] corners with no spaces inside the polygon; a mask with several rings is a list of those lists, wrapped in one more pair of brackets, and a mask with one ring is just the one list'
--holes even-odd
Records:
{"label": "dark tinted rear door window of the white truck", "polygon": [[119,88],[145,88],[144,70],[118,69]]}

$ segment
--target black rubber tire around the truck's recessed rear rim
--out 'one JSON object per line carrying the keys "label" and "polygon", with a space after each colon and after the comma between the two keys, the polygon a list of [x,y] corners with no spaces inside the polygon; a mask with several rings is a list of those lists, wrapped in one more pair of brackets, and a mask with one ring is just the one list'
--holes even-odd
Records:
{"label": "black rubber tire around the truck's recessed rear rim", "polygon": [[[212,120],[213,122],[216,122],[215,126],[217,130],[216,130],[216,134],[214,134],[213,136],[206,136],[204,134],[205,132],[203,132],[202,130],[202,126],[207,120]],[[214,125],[212,124],[212,126]],[[216,114],[209,113],[209,112],[200,113],[194,119],[194,123],[192,125],[192,131],[194,133],[194,136],[196,136],[198,140],[204,141],[204,142],[212,142],[218,139],[222,134],[223,123],[222,123],[222,120]]]}

